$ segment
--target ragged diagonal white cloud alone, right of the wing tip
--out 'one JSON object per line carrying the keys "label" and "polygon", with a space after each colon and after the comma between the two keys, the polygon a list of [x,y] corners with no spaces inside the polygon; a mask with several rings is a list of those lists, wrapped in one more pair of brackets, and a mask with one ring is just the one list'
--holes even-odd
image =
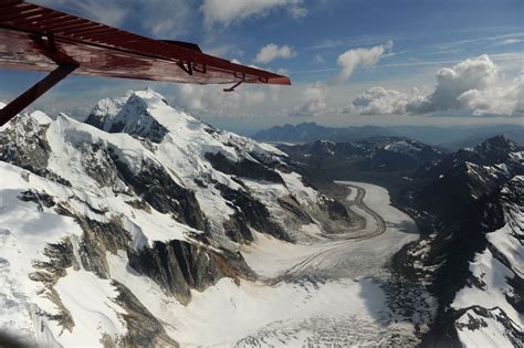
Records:
{"label": "ragged diagonal white cloud alone, right of the wing tip", "polygon": [[336,78],[337,83],[347,81],[358,66],[375,66],[385,52],[391,51],[392,41],[371,49],[354,49],[340,54],[337,59],[342,71]]}

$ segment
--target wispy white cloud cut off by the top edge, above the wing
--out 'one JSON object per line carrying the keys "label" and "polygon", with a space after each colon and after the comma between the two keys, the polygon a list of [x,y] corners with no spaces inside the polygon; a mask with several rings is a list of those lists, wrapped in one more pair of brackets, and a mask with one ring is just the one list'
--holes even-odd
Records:
{"label": "wispy white cloud cut off by the top edge, above the wing", "polygon": [[205,0],[200,7],[207,27],[230,25],[251,17],[264,17],[271,10],[285,8],[294,18],[306,14],[302,0]]}

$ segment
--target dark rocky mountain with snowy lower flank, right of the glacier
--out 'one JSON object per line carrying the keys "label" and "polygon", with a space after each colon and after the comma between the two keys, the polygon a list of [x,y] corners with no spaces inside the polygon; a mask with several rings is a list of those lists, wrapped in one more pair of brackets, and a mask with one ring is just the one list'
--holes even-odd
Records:
{"label": "dark rocky mountain with snowy lower flank, right of the glacier", "polygon": [[433,231],[407,265],[439,298],[428,346],[524,342],[524,149],[502,136],[417,170],[413,211]]}

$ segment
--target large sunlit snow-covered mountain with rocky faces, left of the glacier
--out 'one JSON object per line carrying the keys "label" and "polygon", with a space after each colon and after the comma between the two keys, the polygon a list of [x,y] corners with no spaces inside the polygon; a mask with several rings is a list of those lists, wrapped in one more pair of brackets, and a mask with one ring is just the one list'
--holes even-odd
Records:
{"label": "large sunlit snow-covered mountain with rocky faces, left of the glacier", "polygon": [[176,346],[193,289],[259,278],[242,245],[349,221],[286,161],[150,89],[86,123],[20,115],[0,128],[0,329],[46,347]]}

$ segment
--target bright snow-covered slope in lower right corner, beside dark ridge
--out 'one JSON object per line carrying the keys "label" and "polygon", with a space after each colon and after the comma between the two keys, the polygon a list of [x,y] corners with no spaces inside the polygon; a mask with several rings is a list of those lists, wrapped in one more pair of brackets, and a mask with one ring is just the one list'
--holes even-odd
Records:
{"label": "bright snow-covered slope in lower right corner, beside dark ridge", "polygon": [[524,342],[524,177],[500,192],[502,226],[485,234],[488,244],[470,263],[468,283],[451,308],[465,346],[518,347]]}

